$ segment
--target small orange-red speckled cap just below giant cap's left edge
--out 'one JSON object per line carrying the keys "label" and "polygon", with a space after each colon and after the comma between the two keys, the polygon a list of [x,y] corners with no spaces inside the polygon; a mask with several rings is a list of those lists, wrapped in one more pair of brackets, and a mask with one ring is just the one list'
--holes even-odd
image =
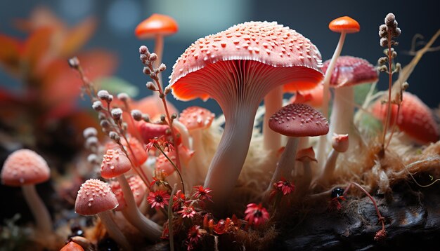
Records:
{"label": "small orange-red speckled cap just below giant cap's left edge", "polygon": [[188,107],[179,116],[179,122],[188,130],[209,128],[213,120],[214,114],[202,107]]}

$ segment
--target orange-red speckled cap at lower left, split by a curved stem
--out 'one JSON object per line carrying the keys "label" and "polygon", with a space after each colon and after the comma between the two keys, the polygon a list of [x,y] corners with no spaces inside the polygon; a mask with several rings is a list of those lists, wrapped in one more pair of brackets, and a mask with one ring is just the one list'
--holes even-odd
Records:
{"label": "orange-red speckled cap at lower left, split by a curved stem", "polygon": [[[131,188],[131,192],[134,196],[134,201],[136,202],[136,205],[141,205],[141,202],[143,201],[143,198],[145,197],[145,192],[147,191],[147,186],[139,177],[138,175],[131,176],[127,179],[129,182],[129,186]],[[124,199],[124,194],[122,193],[121,186],[119,185],[119,182],[113,181],[110,182],[110,188],[112,189],[113,194],[115,194],[117,198],[117,202],[119,205],[117,208],[115,208],[115,211],[120,211],[127,207],[127,203]]]}

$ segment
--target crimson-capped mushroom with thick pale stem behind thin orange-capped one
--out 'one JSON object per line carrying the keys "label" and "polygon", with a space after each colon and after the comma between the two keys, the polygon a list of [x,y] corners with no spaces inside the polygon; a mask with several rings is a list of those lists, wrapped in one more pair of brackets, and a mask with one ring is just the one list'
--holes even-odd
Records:
{"label": "crimson-capped mushroom with thick pale stem behind thin orange-capped one", "polygon": [[[323,72],[328,71],[330,60],[324,62]],[[335,63],[330,87],[335,90],[329,135],[348,134],[353,123],[354,86],[374,83],[379,79],[376,68],[360,57],[341,56]]]}

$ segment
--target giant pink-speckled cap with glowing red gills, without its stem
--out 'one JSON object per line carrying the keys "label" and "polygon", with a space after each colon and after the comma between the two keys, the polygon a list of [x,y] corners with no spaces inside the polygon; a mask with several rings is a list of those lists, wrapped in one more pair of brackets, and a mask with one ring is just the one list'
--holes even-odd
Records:
{"label": "giant pink-speckled cap with glowing red gills, without its stem", "polygon": [[179,100],[212,97],[222,106],[247,85],[260,95],[287,83],[313,88],[323,78],[319,67],[321,54],[301,34],[276,22],[245,22],[195,41],[174,65],[170,87]]}

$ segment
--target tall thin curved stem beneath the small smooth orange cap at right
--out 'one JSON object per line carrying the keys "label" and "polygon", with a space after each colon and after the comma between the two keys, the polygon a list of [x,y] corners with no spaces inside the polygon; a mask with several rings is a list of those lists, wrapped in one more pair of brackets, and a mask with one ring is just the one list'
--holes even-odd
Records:
{"label": "tall thin curved stem beneath the small smooth orange cap at right", "polygon": [[[341,55],[342,47],[344,46],[345,41],[345,35],[346,32],[342,32],[341,36],[339,36],[339,41],[337,43],[335,53],[333,53],[332,60],[330,60],[330,64],[328,65],[327,72],[325,72],[324,80],[323,80],[323,107],[321,108],[321,111],[325,118],[328,118],[328,93],[330,93],[330,79],[332,78],[332,72],[333,69],[335,69],[336,60],[339,55]],[[332,124],[332,121],[330,121],[330,125]],[[318,159],[318,163],[321,163],[319,165],[322,165],[324,162],[325,155],[327,154],[327,140],[325,135],[321,136],[319,138],[318,142],[318,151],[316,152],[316,157]]]}

